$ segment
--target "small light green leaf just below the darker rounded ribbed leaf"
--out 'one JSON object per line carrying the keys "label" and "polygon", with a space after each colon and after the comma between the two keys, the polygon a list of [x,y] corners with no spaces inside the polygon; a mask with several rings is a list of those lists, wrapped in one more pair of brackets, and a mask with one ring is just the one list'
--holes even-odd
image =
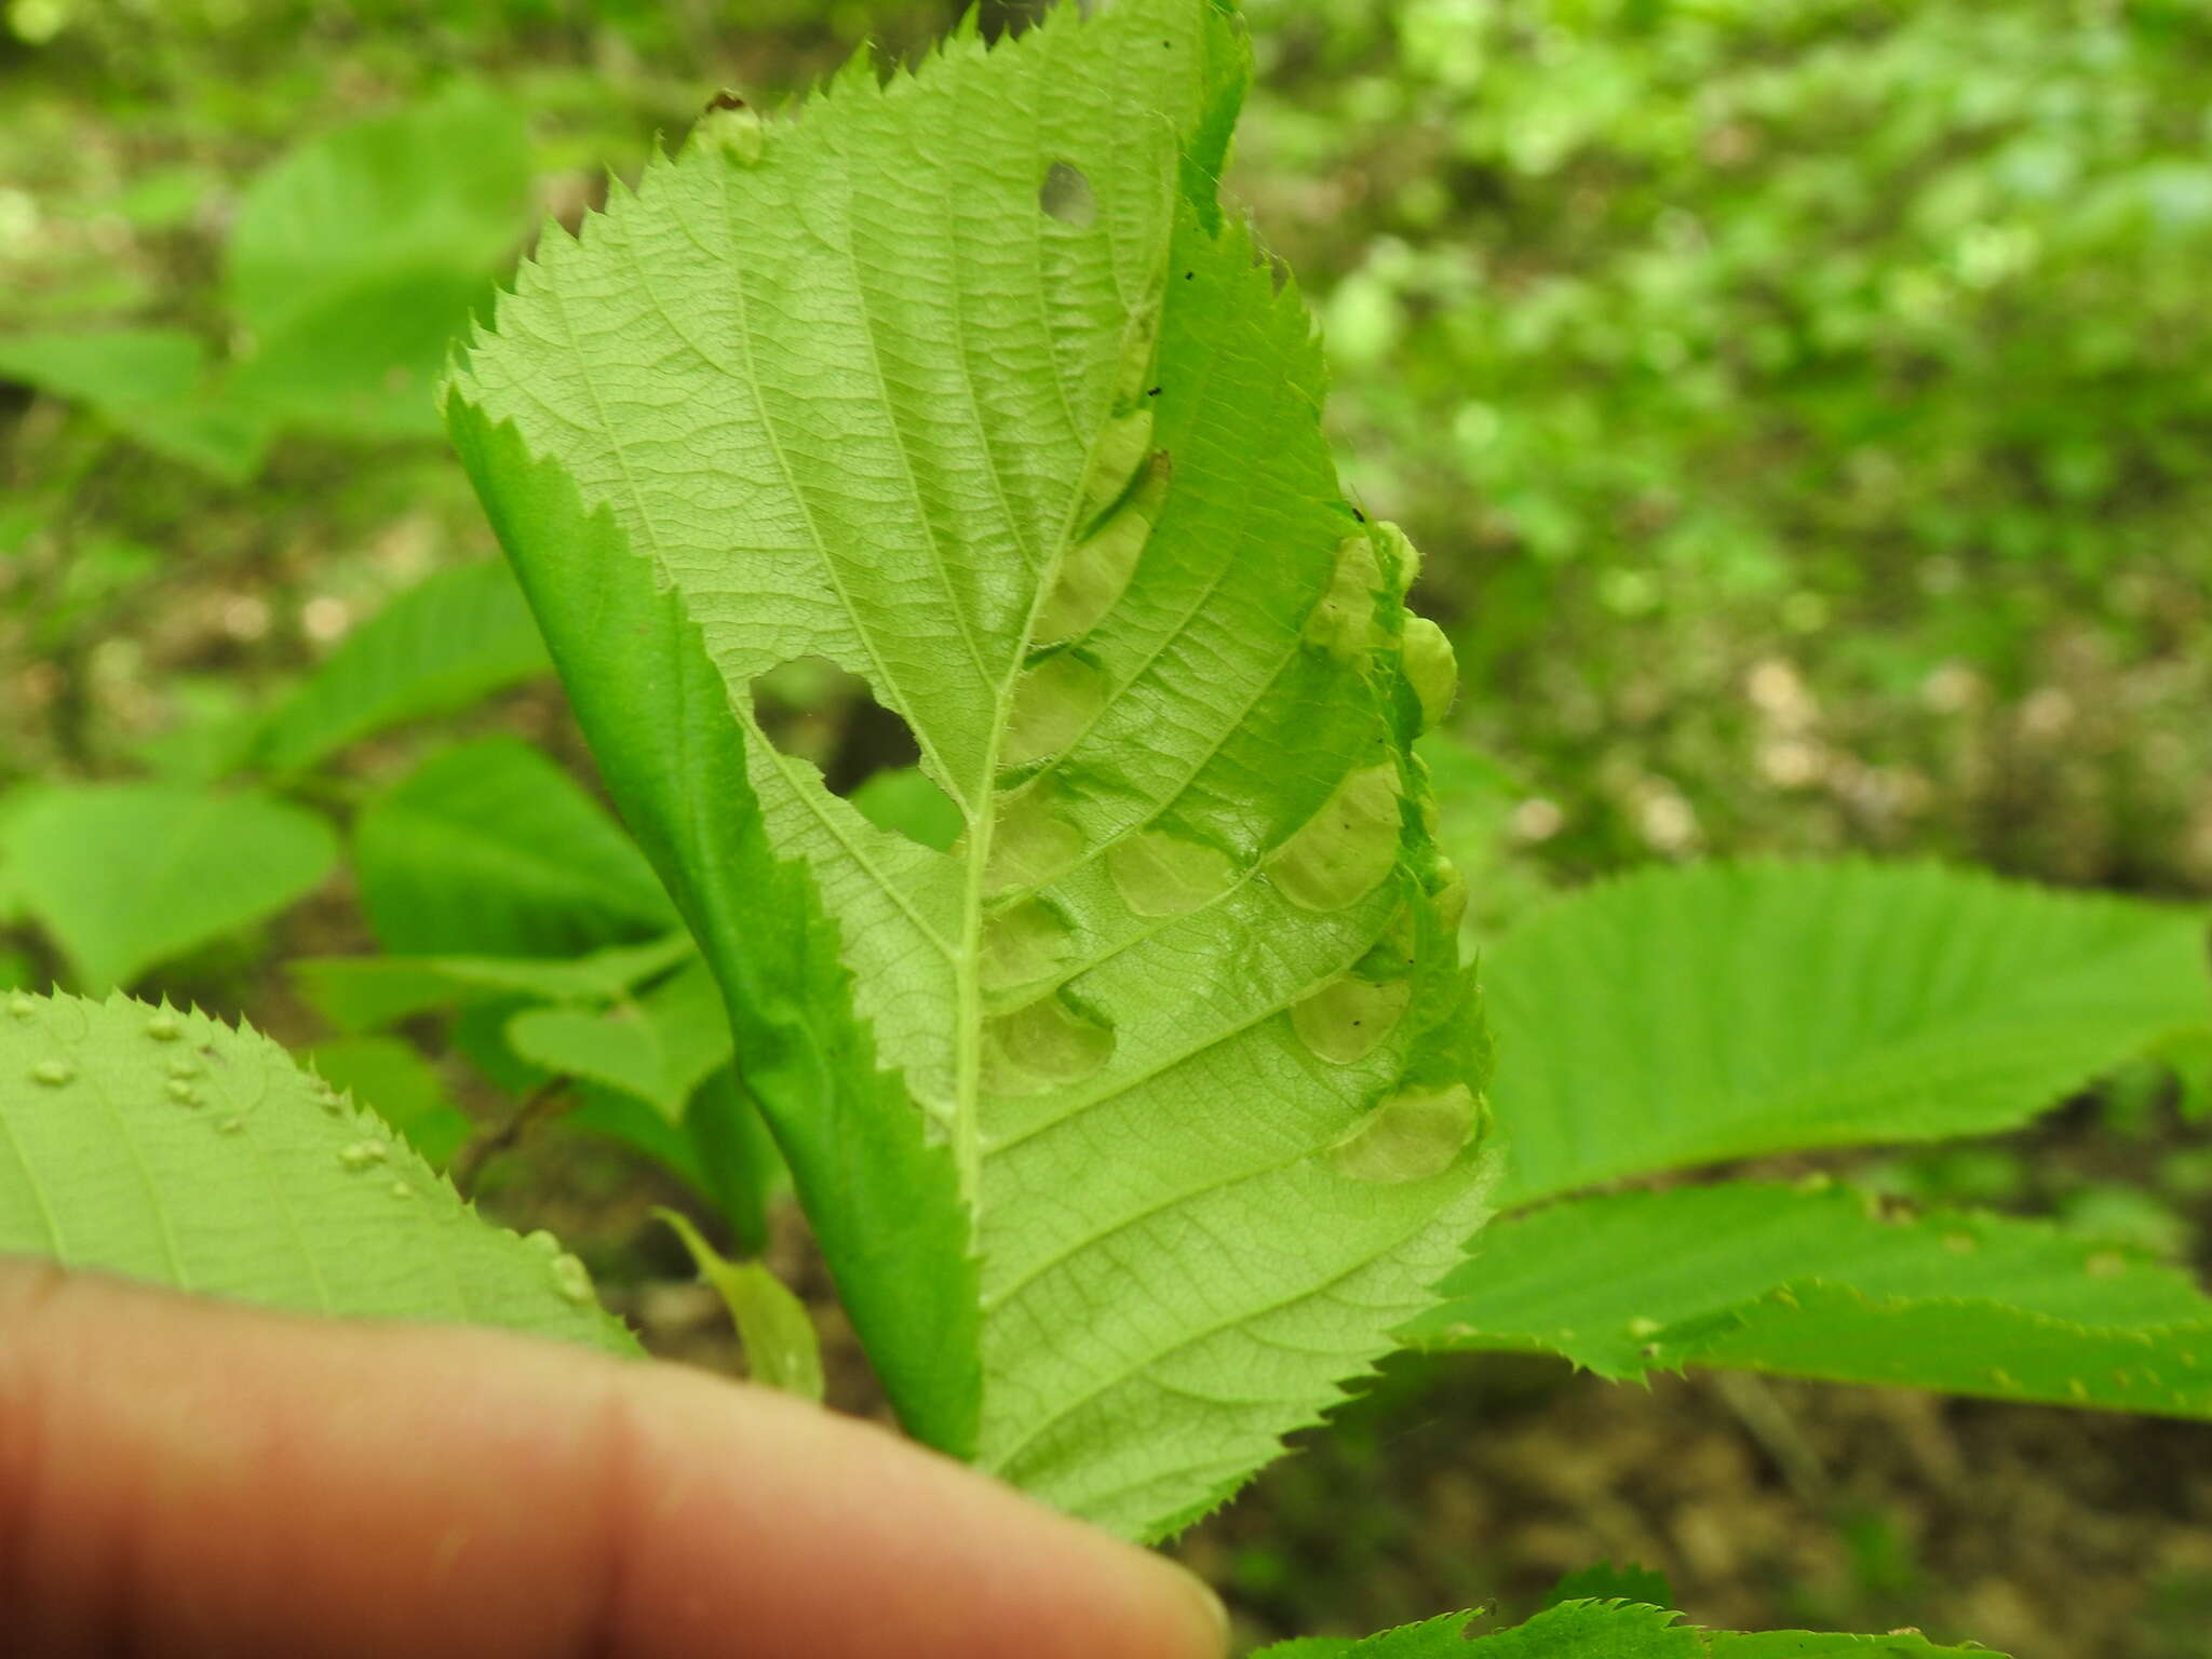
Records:
{"label": "small light green leaf just below the darker rounded ribbed leaf", "polygon": [[533,1066],[619,1088],[670,1124],[710,1073],[730,1064],[730,1022],[706,962],[606,1011],[526,1009],[507,1044]]}

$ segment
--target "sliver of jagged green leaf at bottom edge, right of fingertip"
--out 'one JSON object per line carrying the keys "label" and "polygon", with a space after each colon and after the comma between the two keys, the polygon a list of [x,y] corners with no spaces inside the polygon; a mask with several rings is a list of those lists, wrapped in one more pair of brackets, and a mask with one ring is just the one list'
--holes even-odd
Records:
{"label": "sliver of jagged green leaf at bottom edge, right of fingertip", "polygon": [[1451,1613],[1363,1641],[1279,1641],[1254,1659],[2004,1659],[1993,1648],[1940,1648],[1913,1630],[1701,1630],[1639,1601],[1562,1601],[1473,1641],[1462,1635],[1467,1621],[1467,1613]]}

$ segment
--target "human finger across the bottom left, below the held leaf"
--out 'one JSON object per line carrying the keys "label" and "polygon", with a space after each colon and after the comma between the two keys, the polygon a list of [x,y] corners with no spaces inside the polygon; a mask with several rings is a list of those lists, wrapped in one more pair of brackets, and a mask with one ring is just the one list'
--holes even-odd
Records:
{"label": "human finger across the bottom left, below the held leaf", "polygon": [[1214,1659],[1179,1568],[865,1422],[0,1261],[22,1659]]}

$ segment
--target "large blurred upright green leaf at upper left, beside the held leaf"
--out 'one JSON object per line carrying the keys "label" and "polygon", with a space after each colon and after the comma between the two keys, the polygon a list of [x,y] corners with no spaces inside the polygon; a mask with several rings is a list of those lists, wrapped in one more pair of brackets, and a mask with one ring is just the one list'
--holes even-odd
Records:
{"label": "large blurred upright green leaf at upper left, beside the held leaf", "polygon": [[531,153],[482,88],[343,126],[252,181],[228,246],[232,394],[338,436],[436,431],[447,343],[522,239]]}

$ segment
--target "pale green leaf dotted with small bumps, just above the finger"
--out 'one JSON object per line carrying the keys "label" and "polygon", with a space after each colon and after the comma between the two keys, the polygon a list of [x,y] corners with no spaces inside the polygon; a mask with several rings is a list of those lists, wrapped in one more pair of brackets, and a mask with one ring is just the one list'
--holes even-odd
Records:
{"label": "pale green leaf dotted with small bumps, just above the finger", "polygon": [[551,1234],[476,1219],[383,1119],[274,1042],[122,995],[4,1000],[0,1254],[637,1352]]}

